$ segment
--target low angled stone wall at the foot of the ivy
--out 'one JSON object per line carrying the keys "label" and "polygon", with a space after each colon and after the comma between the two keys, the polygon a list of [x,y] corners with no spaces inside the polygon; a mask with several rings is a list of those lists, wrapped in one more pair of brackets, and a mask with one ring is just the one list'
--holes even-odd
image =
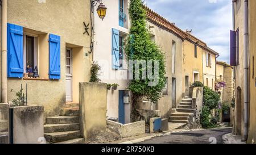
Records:
{"label": "low angled stone wall at the foot of the ivy", "polygon": [[120,135],[122,138],[143,135],[145,133],[145,122],[139,121],[129,124],[121,124],[107,120],[108,128]]}

